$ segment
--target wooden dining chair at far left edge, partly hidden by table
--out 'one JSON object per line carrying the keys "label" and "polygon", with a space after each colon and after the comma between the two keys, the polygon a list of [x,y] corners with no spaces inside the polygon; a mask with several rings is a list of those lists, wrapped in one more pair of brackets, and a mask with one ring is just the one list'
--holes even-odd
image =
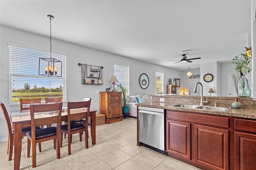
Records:
{"label": "wooden dining chair at far left edge, partly hidden by table", "polygon": [[[12,130],[12,124],[10,121],[9,114],[6,110],[6,107],[4,106],[4,103],[1,101],[0,102],[2,112],[4,114],[4,118],[6,121],[6,125],[8,128],[8,149],[7,149],[7,154],[8,154],[8,160],[12,160],[12,150],[13,150],[13,145],[14,145],[14,133]],[[40,129],[40,127],[36,127],[36,129]],[[21,130],[22,137],[26,136],[26,132],[31,131],[31,127],[23,127]],[[41,152],[41,143],[39,145],[39,151]]]}

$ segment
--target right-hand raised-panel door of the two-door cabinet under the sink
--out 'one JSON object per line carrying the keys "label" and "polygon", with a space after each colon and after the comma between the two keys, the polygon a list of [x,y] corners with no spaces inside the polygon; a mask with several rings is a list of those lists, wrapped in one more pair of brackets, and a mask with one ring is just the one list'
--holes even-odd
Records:
{"label": "right-hand raised-panel door of the two-door cabinet under the sink", "polygon": [[195,161],[215,170],[228,170],[228,130],[195,125]]}

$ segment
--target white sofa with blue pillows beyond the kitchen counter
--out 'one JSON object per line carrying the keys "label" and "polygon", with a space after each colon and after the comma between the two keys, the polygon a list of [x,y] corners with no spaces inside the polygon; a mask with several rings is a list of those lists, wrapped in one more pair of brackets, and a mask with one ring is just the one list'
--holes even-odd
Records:
{"label": "white sofa with blue pillows beyond the kitchen counter", "polygon": [[129,107],[128,109],[128,113],[130,113],[130,116],[132,117],[137,117],[137,106],[135,105],[136,99],[135,97],[137,97],[138,99],[144,99],[145,102],[150,102],[150,97],[148,97],[148,95],[135,95],[135,96],[129,96],[128,100],[126,102],[127,107]]}

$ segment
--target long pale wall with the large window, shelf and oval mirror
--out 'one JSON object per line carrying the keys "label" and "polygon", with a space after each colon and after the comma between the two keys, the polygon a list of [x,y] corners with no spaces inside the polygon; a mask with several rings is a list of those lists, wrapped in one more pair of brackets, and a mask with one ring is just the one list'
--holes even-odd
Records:
{"label": "long pale wall with the large window, shelf and oval mirror", "polygon": [[[45,36],[24,32],[14,28],[0,26],[0,101],[6,105],[10,114],[11,111],[19,110],[19,106],[9,106],[9,53],[8,42],[20,45],[27,45],[40,49],[50,50],[50,39]],[[53,36],[54,38],[54,36]],[[169,82],[169,75],[181,77],[182,72],[159,65],[145,63],[142,61],[122,57],[112,53],[91,49],[88,47],[52,39],[52,51],[66,53],[66,91],[67,101],[80,101],[83,97],[91,97],[91,108],[99,113],[99,94],[96,91],[105,91],[109,87],[111,75],[114,74],[114,64],[130,67],[130,93],[132,94],[155,94],[156,71],[164,73],[164,84]],[[82,85],[81,66],[78,63],[88,63],[103,66],[103,85]],[[147,89],[139,86],[139,76],[146,73],[149,77]],[[113,88],[113,87],[112,87]],[[166,93],[166,88],[164,92]],[[66,105],[66,103],[64,103]],[[6,123],[1,111],[0,114],[0,141],[7,140]]]}

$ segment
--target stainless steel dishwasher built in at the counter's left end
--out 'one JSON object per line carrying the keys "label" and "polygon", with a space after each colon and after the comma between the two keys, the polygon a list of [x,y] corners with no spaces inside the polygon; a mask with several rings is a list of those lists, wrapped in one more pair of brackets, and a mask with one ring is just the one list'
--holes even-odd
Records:
{"label": "stainless steel dishwasher built in at the counter's left end", "polygon": [[165,152],[164,109],[138,108],[138,133],[140,144],[167,155]]}

